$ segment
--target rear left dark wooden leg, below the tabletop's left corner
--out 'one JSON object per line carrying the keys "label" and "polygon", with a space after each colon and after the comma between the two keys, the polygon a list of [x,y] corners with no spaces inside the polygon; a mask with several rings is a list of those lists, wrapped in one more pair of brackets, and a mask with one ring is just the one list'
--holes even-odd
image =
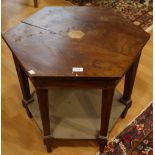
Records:
{"label": "rear left dark wooden leg, below the tabletop's left corner", "polygon": [[30,95],[30,88],[29,88],[29,82],[28,82],[28,77],[25,74],[24,70],[22,69],[21,65],[18,63],[18,60],[13,56],[19,83],[20,83],[20,88],[23,94],[23,100],[22,104],[24,108],[26,109],[26,112],[30,118],[32,118],[32,114],[29,111],[27,105],[33,101],[33,98]]}

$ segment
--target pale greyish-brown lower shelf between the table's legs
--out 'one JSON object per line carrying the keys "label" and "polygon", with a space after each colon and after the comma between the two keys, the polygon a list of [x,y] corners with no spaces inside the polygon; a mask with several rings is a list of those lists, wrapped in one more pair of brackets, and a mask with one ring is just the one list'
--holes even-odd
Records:
{"label": "pale greyish-brown lower shelf between the table's legs", "polygon": [[[96,139],[101,121],[101,90],[64,89],[49,90],[50,127],[53,138]],[[34,120],[42,130],[36,94],[28,105]],[[109,132],[125,106],[119,102],[121,94],[115,91]]]}

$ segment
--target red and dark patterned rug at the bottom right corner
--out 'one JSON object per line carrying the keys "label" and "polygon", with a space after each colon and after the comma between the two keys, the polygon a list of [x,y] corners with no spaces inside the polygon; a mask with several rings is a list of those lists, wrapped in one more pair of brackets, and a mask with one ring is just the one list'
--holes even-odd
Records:
{"label": "red and dark patterned rug at the bottom right corner", "polygon": [[153,155],[152,104],[105,148],[105,155]]}

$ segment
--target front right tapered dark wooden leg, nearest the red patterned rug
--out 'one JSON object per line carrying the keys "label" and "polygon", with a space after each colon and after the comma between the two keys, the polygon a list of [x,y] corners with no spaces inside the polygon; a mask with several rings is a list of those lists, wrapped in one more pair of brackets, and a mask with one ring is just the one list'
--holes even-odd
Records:
{"label": "front right tapered dark wooden leg, nearest the red patterned rug", "polygon": [[110,113],[113,101],[114,89],[102,90],[102,107],[101,107],[101,128],[98,137],[100,155],[104,152],[104,147],[107,144],[107,134],[110,120]]}

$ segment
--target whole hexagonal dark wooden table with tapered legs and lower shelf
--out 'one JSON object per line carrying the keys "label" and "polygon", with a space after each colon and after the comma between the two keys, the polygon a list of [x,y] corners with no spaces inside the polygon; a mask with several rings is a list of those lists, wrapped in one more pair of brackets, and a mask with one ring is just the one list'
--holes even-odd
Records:
{"label": "whole hexagonal dark wooden table with tapered legs and lower shelf", "polygon": [[[62,130],[59,129],[61,133],[54,131],[59,127],[54,127],[54,121],[52,124],[51,120],[55,109],[53,108],[53,113],[49,117],[49,108],[60,107],[57,109],[59,116],[67,115],[67,119],[73,118],[74,113],[77,114],[73,123],[75,125],[76,121],[80,123],[84,120],[82,116],[79,119],[80,114],[76,112],[78,104],[84,102],[82,106],[90,117],[93,117],[95,112],[96,118],[98,114],[100,115],[101,119],[96,119],[99,121],[99,126],[95,126],[95,123],[92,126],[99,129],[94,129],[92,131],[94,135],[90,138],[96,138],[98,134],[97,139],[102,154],[108,140],[112,103],[121,102],[123,103],[121,105],[125,105],[123,113],[119,112],[124,118],[132,103],[131,93],[136,70],[149,35],[110,9],[46,7],[3,34],[3,38],[12,51],[23,94],[22,103],[30,117],[33,115],[31,108],[35,110],[34,116],[38,112],[32,103],[39,104],[42,120],[40,126],[47,151],[51,151],[52,138],[61,138],[61,135],[67,138],[69,134],[67,131],[70,131],[64,127]],[[120,96],[115,92],[115,88],[124,75],[124,92]],[[36,89],[36,95],[30,94],[28,78]],[[52,106],[48,103],[50,88],[52,88],[51,94],[54,94],[51,98],[53,99],[51,102],[54,103]],[[96,92],[93,92],[93,89]],[[72,92],[74,95],[71,95]],[[113,101],[114,92],[116,101]],[[70,96],[71,101],[64,100],[65,93]],[[86,93],[88,93],[87,97]],[[94,100],[91,107],[89,100],[95,93],[99,94],[101,101],[94,103]],[[83,96],[84,101],[82,99],[77,101],[77,96]],[[96,96],[96,99],[98,97]],[[60,106],[62,103],[59,101],[60,98],[61,101],[66,102],[64,107]],[[97,112],[94,109],[99,102],[101,106],[97,108]],[[67,107],[72,111],[72,115],[65,112]],[[113,109],[113,111],[119,110]],[[55,116],[58,124],[61,124],[63,117]],[[84,129],[84,123],[81,127],[78,123],[76,128]],[[66,125],[65,121],[62,124]],[[83,132],[89,129],[88,127]],[[89,139],[88,133],[83,134],[82,137]],[[72,134],[72,138],[78,137]]]}

